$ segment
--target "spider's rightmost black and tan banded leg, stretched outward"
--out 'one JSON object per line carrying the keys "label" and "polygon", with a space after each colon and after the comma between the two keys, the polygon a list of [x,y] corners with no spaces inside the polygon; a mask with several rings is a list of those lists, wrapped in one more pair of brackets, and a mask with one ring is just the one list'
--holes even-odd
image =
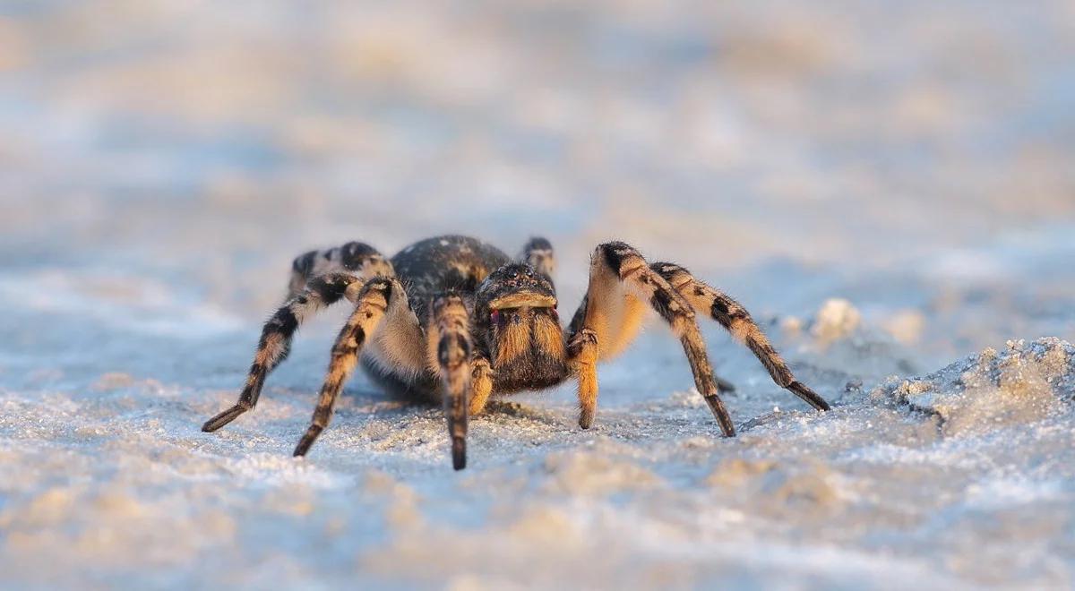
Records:
{"label": "spider's rightmost black and tan banded leg, stretched outward", "polygon": [[705,314],[720,323],[740,343],[746,345],[769,371],[773,381],[786,388],[818,410],[829,410],[829,403],[796,379],[788,364],[769,342],[765,333],[750,318],[750,314],[739,302],[722,291],[697,278],[683,266],[674,263],[654,263],[651,269],[659,273],[675,290],[690,302],[699,314]]}

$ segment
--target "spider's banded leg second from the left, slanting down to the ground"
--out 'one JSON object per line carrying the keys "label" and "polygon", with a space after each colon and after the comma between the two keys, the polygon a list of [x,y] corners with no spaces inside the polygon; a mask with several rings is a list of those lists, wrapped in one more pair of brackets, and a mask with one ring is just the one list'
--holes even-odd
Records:
{"label": "spider's banded leg second from the left, slanting down to the ground", "polygon": [[317,436],[329,426],[336,397],[355,371],[362,346],[373,337],[389,307],[396,306],[406,307],[407,300],[403,286],[395,278],[370,279],[359,291],[355,312],[332,346],[332,359],[317,399],[317,408],[314,409],[310,428],[295,448],[296,456],[305,456]]}

